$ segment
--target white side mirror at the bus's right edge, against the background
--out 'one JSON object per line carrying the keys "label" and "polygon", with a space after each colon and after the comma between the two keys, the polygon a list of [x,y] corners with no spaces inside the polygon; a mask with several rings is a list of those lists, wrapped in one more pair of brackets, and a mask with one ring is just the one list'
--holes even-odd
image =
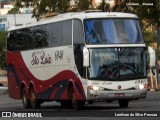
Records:
{"label": "white side mirror at the bus's right edge, against the background", "polygon": [[152,47],[148,47],[148,52],[149,52],[149,66],[150,67],[155,67],[156,66],[155,50],[153,50]]}

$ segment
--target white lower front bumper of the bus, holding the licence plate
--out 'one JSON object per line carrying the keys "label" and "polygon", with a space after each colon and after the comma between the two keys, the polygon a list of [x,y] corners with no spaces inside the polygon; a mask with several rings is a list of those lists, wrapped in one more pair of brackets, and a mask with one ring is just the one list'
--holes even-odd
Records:
{"label": "white lower front bumper of the bus, holding the licence plate", "polygon": [[147,89],[141,90],[121,90],[121,91],[100,91],[88,90],[87,100],[136,100],[145,99],[147,97]]}

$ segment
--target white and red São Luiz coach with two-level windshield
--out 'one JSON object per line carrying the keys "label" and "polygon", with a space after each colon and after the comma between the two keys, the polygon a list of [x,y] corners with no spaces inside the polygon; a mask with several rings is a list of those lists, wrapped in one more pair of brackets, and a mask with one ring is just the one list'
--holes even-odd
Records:
{"label": "white and red S\u00e3o Luiz coach with two-level windshield", "polygon": [[138,17],[118,12],[65,13],[8,30],[8,92],[24,108],[147,96],[147,57]]}

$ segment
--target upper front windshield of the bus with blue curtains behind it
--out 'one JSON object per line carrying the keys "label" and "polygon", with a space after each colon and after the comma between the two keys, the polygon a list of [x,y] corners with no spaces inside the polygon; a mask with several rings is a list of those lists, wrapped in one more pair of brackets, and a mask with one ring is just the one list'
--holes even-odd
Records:
{"label": "upper front windshield of the bus with blue curtains behind it", "polygon": [[137,19],[86,19],[86,44],[144,43]]}

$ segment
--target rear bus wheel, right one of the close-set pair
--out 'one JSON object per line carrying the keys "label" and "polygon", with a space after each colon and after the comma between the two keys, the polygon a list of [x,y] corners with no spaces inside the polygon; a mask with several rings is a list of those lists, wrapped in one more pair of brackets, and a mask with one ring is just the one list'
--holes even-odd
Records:
{"label": "rear bus wheel, right one of the close-set pair", "polygon": [[30,89],[30,101],[31,101],[32,108],[34,109],[40,108],[41,103],[39,100],[36,99],[33,87]]}

